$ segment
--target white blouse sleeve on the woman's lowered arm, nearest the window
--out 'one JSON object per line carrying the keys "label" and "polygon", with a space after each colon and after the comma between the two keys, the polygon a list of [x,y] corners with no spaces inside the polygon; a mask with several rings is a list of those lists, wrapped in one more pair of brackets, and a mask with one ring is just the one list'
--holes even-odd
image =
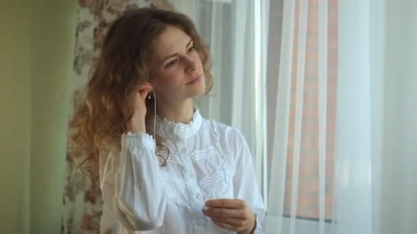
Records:
{"label": "white blouse sleeve on the woman's lowered arm, nearest the window", "polygon": [[237,151],[236,171],[233,178],[234,194],[236,198],[245,200],[257,216],[257,226],[253,233],[263,233],[261,222],[265,218],[265,206],[254,173],[252,155],[249,146],[241,134],[236,130],[235,150]]}

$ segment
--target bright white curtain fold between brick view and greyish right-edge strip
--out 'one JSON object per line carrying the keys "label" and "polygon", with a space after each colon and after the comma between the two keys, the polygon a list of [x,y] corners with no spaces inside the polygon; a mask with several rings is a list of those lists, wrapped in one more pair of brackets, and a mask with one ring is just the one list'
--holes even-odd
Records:
{"label": "bright white curtain fold between brick view and greyish right-edge strip", "polygon": [[[333,233],[378,233],[383,34],[375,1],[339,1],[339,73]],[[372,14],[371,15],[371,10]],[[373,27],[372,27],[373,26]],[[382,37],[381,37],[382,36]],[[375,43],[375,44],[373,44]],[[382,42],[383,43],[383,42]]]}

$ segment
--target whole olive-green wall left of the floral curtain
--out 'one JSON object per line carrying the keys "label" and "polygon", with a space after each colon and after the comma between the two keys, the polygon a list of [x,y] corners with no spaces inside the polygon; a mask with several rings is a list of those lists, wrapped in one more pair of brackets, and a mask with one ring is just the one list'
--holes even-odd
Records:
{"label": "whole olive-green wall left of the floral curtain", "polygon": [[60,233],[76,1],[0,1],[0,233]]}

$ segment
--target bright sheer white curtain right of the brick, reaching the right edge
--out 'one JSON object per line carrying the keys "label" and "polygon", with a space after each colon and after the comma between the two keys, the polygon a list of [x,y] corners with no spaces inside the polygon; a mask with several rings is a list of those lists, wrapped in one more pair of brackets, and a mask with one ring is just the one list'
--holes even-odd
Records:
{"label": "bright sheer white curtain right of the brick, reaching the right edge", "polygon": [[334,233],[417,233],[417,3],[339,2]]}

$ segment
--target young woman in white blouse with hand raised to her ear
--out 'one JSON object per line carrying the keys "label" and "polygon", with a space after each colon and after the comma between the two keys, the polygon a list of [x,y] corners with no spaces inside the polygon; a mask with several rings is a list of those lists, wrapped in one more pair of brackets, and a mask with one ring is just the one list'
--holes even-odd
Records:
{"label": "young woman in white blouse with hand raised to her ear", "polygon": [[141,8],[110,27],[72,139],[119,233],[262,233],[246,140],[193,105],[210,68],[184,14]]}

